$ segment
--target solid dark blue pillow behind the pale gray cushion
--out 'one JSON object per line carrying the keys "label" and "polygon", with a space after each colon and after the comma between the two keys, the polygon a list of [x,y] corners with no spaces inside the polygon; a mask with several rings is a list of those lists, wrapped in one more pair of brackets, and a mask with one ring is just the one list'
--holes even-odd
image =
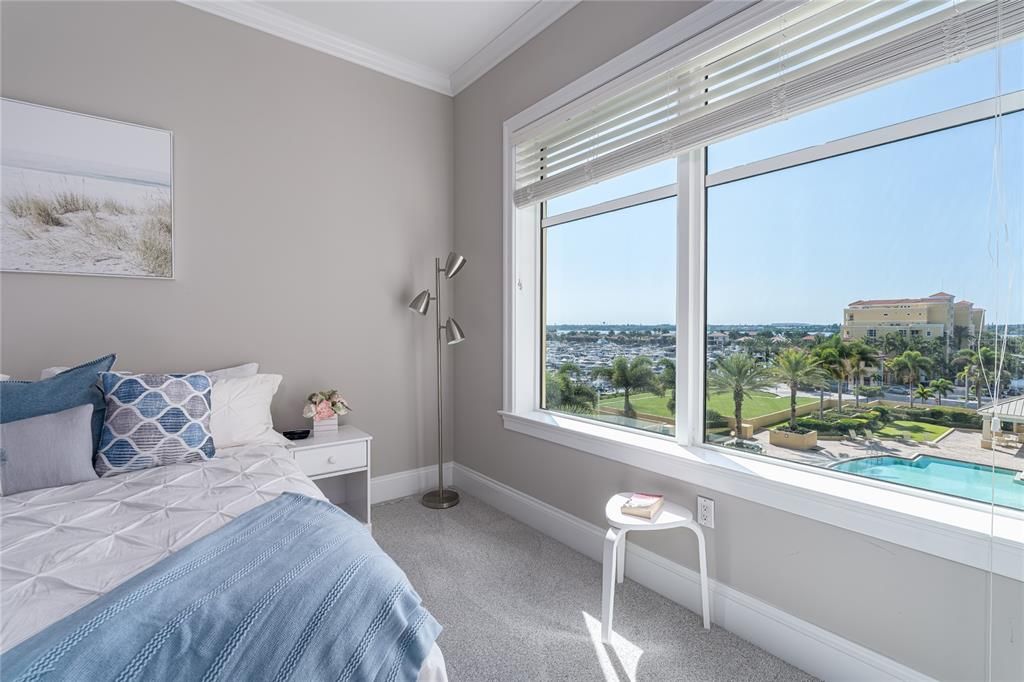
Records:
{"label": "solid dark blue pillow behind the pale gray cushion", "polygon": [[117,355],[104,355],[42,381],[0,381],[0,424],[91,404],[92,452],[96,452],[106,413],[99,373],[110,371],[115,359]]}

